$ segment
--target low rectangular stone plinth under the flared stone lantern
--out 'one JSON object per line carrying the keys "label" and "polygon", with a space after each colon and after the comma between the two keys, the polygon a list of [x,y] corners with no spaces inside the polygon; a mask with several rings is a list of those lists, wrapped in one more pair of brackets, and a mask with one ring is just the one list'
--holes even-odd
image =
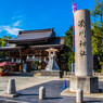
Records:
{"label": "low rectangular stone plinth under the flared stone lantern", "polygon": [[41,76],[60,77],[60,78],[62,78],[63,72],[62,70],[41,70]]}

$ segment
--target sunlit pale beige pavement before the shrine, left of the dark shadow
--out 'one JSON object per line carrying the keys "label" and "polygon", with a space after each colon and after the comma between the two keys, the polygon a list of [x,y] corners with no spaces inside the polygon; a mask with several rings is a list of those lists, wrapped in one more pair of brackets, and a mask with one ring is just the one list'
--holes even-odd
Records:
{"label": "sunlit pale beige pavement before the shrine, left of the dark shadow", "polygon": [[27,77],[27,76],[0,77],[0,90],[7,89],[9,79],[11,78],[15,79],[17,91],[51,80],[60,80],[60,78],[53,77]]}

